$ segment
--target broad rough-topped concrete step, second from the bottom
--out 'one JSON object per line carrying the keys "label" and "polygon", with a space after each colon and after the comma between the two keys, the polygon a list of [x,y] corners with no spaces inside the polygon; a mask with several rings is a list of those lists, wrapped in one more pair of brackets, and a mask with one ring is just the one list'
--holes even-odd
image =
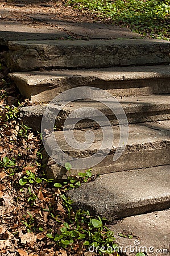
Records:
{"label": "broad rough-topped concrete step, second from the bottom", "polygon": [[74,208],[109,221],[170,207],[170,166],[101,175],[67,195]]}

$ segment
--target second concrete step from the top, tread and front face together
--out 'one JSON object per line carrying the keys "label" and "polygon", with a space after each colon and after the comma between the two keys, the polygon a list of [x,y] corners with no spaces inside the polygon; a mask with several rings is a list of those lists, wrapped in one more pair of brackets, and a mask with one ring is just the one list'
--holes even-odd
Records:
{"label": "second concrete step from the top, tread and front face together", "polygon": [[77,86],[95,86],[121,97],[170,93],[170,65],[22,72],[9,76],[32,102],[51,101]]}

